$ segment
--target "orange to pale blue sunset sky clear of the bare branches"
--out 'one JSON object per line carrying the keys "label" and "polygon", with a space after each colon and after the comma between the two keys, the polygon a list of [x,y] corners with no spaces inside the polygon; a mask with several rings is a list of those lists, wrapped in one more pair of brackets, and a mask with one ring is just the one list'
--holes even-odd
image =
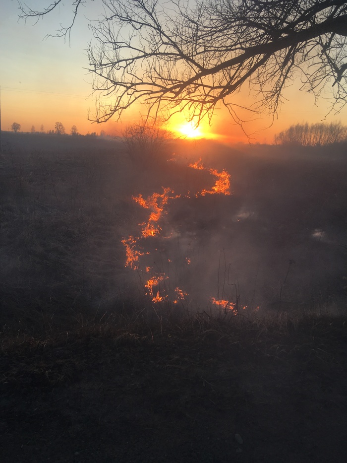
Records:
{"label": "orange to pale blue sunset sky clear of the bare branches", "polygon": [[[28,0],[32,8],[40,9],[50,2]],[[69,4],[69,2],[66,2]],[[100,2],[90,2],[84,8],[86,17],[80,15],[71,34],[71,46],[62,38],[45,39],[54,33],[59,24],[68,24],[70,10],[60,8],[54,14],[46,16],[36,25],[34,21],[18,21],[17,0],[3,1],[0,15],[0,86],[1,86],[1,128],[10,130],[13,122],[21,124],[21,131],[29,132],[34,126],[36,131],[41,125],[44,130],[53,130],[56,122],[61,122],[66,132],[76,125],[80,133],[104,130],[116,134],[121,131],[121,124],[111,121],[106,124],[92,124],[88,111],[93,114],[95,98],[92,94],[92,74],[88,72],[86,47],[92,39],[86,17],[94,19],[100,14]],[[314,104],[312,95],[300,92],[299,78],[289,87],[284,97],[287,98],[272,127],[271,120],[262,116],[246,126],[248,133],[255,132],[255,142],[273,141],[275,133],[286,129],[291,124],[320,122],[329,111],[329,94],[323,95]],[[245,95],[247,104],[248,95]],[[141,108],[125,114],[121,123],[127,125],[140,117]],[[334,113],[327,122],[341,121],[347,125],[347,108],[339,115]],[[185,121],[177,117],[171,123],[171,129],[181,128]],[[183,127],[186,132],[187,128]],[[187,132],[186,132],[187,133]],[[239,127],[233,125],[230,115],[225,110],[217,110],[212,119],[212,126],[203,123],[201,136],[219,138],[225,142],[247,141]]]}

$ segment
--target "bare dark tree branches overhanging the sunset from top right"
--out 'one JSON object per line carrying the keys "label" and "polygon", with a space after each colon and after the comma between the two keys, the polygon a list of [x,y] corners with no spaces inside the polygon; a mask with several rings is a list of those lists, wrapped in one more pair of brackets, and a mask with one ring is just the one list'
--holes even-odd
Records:
{"label": "bare dark tree branches overhanging the sunset from top right", "polygon": [[[69,36],[81,5],[57,31]],[[300,76],[318,97],[329,84],[331,110],[347,101],[347,1],[342,0],[102,0],[92,21],[96,42],[88,47],[93,87],[101,96],[97,122],[120,116],[141,102],[147,115],[167,116],[185,108],[199,122],[225,105],[242,123],[233,96],[251,93],[243,108],[275,116],[284,88]],[[49,14],[62,0],[21,17]],[[102,11],[101,11],[102,13]],[[253,95],[253,98],[252,98]],[[110,101],[110,100],[109,100]]]}

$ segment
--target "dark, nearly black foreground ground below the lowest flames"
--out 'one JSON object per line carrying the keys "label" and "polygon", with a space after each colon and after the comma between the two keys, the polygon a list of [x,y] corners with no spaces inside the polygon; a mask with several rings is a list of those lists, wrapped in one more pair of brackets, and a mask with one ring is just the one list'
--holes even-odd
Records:
{"label": "dark, nearly black foreground ground below the lowest flames", "polygon": [[345,461],[346,320],[235,320],[4,336],[1,461]]}

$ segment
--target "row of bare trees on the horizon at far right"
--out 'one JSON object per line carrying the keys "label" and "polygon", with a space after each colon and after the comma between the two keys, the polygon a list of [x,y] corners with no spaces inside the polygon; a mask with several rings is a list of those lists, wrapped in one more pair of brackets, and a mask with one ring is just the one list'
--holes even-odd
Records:
{"label": "row of bare trees on the horizon at far right", "polygon": [[275,143],[281,145],[322,146],[342,142],[347,142],[347,127],[341,122],[296,124],[275,135]]}

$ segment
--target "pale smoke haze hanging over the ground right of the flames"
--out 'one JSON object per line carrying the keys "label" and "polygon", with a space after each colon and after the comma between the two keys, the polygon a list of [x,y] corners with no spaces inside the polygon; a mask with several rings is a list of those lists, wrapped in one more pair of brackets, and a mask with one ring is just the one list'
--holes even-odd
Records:
{"label": "pale smoke haze hanging over the ground right of the flames", "polygon": [[[212,165],[206,165],[206,159],[211,157],[205,155],[202,161],[206,168],[214,169],[218,165],[221,170],[223,163],[216,153]],[[235,162],[231,156],[224,160],[226,164]],[[283,178],[276,178],[276,170],[281,176],[288,174],[286,161],[256,160],[247,175],[255,168],[259,178],[248,183],[244,177],[237,178],[231,168],[231,191],[235,190],[231,196],[197,197],[194,192],[211,189],[213,179],[209,172],[187,169],[193,161],[188,155],[176,156],[170,161],[183,169],[184,181],[179,178],[177,189],[174,187],[177,179],[172,177],[171,188],[180,197],[170,199],[166,205],[159,221],[160,233],[140,240],[145,253],[137,270],[141,271],[142,284],[152,274],[163,275],[155,290],[166,295],[165,301],[170,301],[174,288],[181,288],[186,297],[180,302],[191,310],[211,306],[212,298],[238,303],[239,307],[250,310],[260,307],[264,313],[278,308],[279,304],[288,309],[298,305],[316,307],[329,299],[329,285],[334,281],[334,286],[341,286],[342,276],[337,276],[335,264],[329,264],[327,249],[310,245],[308,229],[299,222],[304,216],[299,210],[301,193],[296,192],[292,200],[290,190],[284,190],[281,185]],[[242,162],[240,157],[236,161]],[[249,161],[248,158],[248,166]],[[314,159],[311,162],[315,164]],[[269,163],[275,172],[267,170]],[[244,169],[243,165],[238,169],[243,176]],[[296,171],[295,166],[293,170]],[[271,175],[267,183],[261,178],[264,173]],[[240,191],[248,190],[248,201],[235,189],[235,184],[241,186]],[[168,183],[163,185],[167,186]],[[289,201],[289,207],[282,199]],[[240,201],[243,205],[239,205]],[[322,243],[329,243],[326,236],[320,229],[311,233],[314,240],[319,238]],[[342,260],[338,258],[338,261],[341,265]],[[144,268],[150,268],[148,274]]]}

